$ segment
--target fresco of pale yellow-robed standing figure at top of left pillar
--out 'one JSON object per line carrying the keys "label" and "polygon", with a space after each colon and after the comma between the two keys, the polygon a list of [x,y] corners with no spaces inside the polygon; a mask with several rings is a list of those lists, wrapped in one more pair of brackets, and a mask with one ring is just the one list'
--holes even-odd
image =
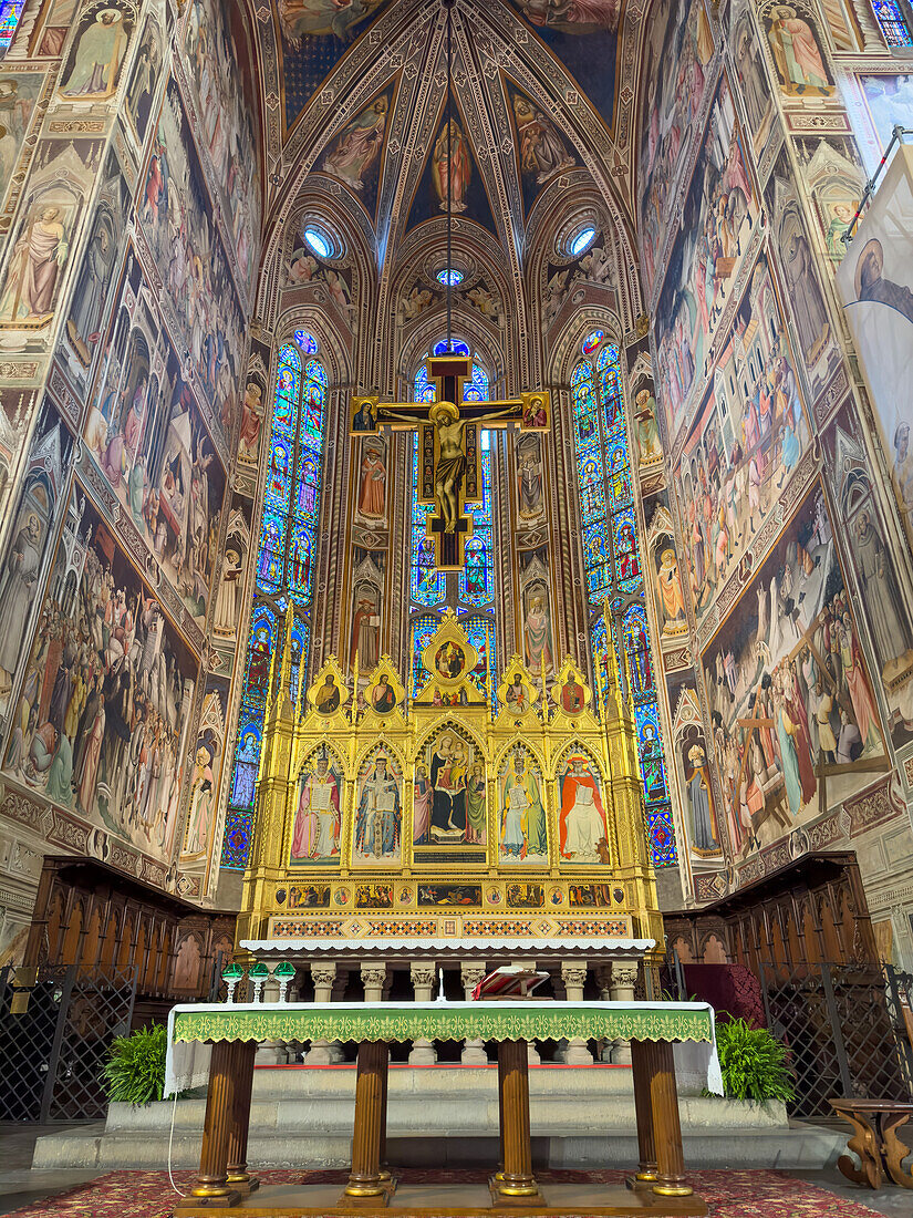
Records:
{"label": "fresco of pale yellow-robed standing figure at top of left pillar", "polygon": [[125,0],[95,0],[86,5],[61,71],[60,96],[69,102],[113,97],[135,24],[136,9]]}

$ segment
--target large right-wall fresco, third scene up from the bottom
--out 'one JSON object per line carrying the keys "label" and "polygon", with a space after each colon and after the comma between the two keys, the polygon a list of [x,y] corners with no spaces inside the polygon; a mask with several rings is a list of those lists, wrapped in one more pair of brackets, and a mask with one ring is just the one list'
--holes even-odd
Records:
{"label": "large right-wall fresco, third scene up from the bottom", "polygon": [[749,246],[758,213],[729,83],[719,82],[656,306],[660,381],[670,435],[678,431]]}

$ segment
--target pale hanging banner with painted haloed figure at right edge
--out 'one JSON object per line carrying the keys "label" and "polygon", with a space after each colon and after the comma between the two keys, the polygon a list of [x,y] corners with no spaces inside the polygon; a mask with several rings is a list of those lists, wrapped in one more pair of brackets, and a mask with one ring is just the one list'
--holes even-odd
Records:
{"label": "pale hanging banner with painted haloed figure at right edge", "polygon": [[895,152],[836,281],[913,543],[913,147]]}

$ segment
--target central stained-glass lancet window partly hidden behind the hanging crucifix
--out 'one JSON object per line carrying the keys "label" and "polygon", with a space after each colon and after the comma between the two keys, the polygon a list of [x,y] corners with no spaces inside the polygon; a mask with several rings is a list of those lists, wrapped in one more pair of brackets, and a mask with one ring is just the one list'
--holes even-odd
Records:
{"label": "central stained-glass lancet window partly hidden behind the hanging crucifix", "polygon": [[[454,343],[454,351],[469,356],[464,342]],[[447,343],[435,345],[436,356],[447,352]],[[427,356],[425,356],[427,359]],[[433,402],[435,386],[429,385],[425,363],[415,374],[414,395],[416,402]],[[477,361],[472,361],[472,380],[463,387],[465,402],[487,402],[491,390],[488,373]],[[466,560],[463,571],[438,571],[435,543],[427,538],[427,516],[435,509],[419,502],[419,436],[413,438],[413,513],[411,513],[411,571],[410,596],[413,602],[413,694],[425,685],[430,674],[421,663],[421,653],[437,630],[439,622],[435,613],[448,604],[456,609],[472,646],[480,655],[474,678],[480,689],[497,688],[494,678],[494,540],[492,527],[492,435],[481,436],[482,498],[478,503],[466,503],[472,515],[472,537],[466,542]]]}

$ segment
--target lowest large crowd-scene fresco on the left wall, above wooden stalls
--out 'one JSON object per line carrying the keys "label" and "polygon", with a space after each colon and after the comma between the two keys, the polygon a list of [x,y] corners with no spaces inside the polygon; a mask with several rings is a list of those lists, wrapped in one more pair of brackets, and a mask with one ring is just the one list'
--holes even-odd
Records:
{"label": "lowest large crowd-scene fresco on the left wall, above wooden stalls", "polygon": [[196,671],[94,508],[79,516],[57,548],[4,766],[164,861]]}

